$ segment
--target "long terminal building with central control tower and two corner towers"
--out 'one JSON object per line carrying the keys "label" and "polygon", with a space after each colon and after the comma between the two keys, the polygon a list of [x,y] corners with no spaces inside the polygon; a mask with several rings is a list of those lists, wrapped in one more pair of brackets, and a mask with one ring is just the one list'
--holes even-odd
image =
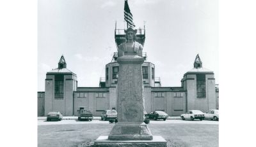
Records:
{"label": "long terminal building with central control tower and two corner towers", "polygon": [[[115,29],[116,46],[125,41],[124,35],[124,30]],[[136,41],[144,45],[145,29],[136,34]],[[50,111],[60,111],[63,116],[76,116],[79,109],[88,109],[93,116],[100,116],[106,109],[116,109],[117,57],[118,54],[114,53],[112,61],[106,64],[106,78],[100,78],[99,87],[77,87],[77,75],[67,69],[62,55],[58,67],[46,73],[45,92],[38,92],[38,116],[46,116]],[[143,57],[147,59],[147,53],[143,53]],[[191,63],[192,69],[184,73],[180,87],[161,87],[152,62],[145,60],[141,68],[147,113],[161,110],[169,116],[179,116],[189,109],[205,112],[219,108],[219,88],[216,87],[214,72],[202,66],[199,55]]]}

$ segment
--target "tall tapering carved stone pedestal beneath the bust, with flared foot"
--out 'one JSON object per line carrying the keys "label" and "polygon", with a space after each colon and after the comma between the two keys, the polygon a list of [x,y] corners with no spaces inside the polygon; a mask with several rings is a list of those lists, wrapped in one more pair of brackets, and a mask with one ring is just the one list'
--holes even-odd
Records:
{"label": "tall tapering carved stone pedestal beneath the bust, with flared foot", "polygon": [[111,130],[110,140],[152,140],[144,118],[143,79],[141,65],[144,58],[138,55],[118,57],[118,123]]}

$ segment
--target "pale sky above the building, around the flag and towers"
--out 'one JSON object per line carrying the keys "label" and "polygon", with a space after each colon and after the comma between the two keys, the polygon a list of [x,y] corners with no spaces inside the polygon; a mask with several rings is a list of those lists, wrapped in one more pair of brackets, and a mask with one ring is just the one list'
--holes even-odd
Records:
{"label": "pale sky above the building, around the flag and towers", "polygon": [[[219,81],[218,1],[129,0],[136,29],[145,25],[143,52],[155,64],[162,87],[180,87],[199,53],[203,67]],[[99,87],[105,65],[117,52],[117,29],[124,29],[124,1],[38,0],[38,91],[61,55],[77,74],[78,87]]]}

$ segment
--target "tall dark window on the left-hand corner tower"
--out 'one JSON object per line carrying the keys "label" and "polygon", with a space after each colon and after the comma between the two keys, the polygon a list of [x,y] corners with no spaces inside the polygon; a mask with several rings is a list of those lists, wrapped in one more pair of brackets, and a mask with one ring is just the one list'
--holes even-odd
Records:
{"label": "tall dark window on the left-hand corner tower", "polygon": [[63,99],[64,75],[56,75],[54,80],[54,98]]}

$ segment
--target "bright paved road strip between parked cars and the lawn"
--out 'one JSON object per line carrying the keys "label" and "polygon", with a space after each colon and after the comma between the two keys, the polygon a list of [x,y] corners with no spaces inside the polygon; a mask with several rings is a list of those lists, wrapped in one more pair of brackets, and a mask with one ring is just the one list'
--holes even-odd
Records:
{"label": "bright paved road strip between parked cars and the lawn", "polygon": [[[86,124],[86,123],[109,123],[108,121],[102,120],[92,120],[91,121],[78,121],[78,120],[61,120],[61,121],[51,121],[47,122],[46,120],[38,120],[38,125],[65,125],[65,124]],[[150,120],[150,124],[166,124],[166,123],[195,123],[195,124],[208,124],[208,125],[218,125],[218,121],[212,120]]]}

